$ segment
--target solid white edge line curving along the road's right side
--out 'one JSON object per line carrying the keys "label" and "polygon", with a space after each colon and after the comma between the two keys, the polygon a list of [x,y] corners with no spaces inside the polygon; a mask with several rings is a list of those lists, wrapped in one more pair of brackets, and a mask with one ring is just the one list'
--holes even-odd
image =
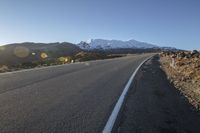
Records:
{"label": "solid white edge line curving along the road's right side", "polygon": [[[153,56],[154,56],[154,55],[153,55]],[[112,132],[113,126],[114,126],[114,124],[115,124],[115,121],[116,121],[116,119],[117,119],[117,116],[118,116],[118,114],[119,114],[119,111],[120,111],[120,109],[121,109],[121,107],[122,107],[122,105],[123,105],[123,103],[124,103],[124,99],[125,99],[125,97],[126,97],[126,95],[127,95],[127,93],[128,93],[128,90],[129,90],[129,88],[130,88],[130,86],[131,86],[131,83],[133,82],[133,80],[134,80],[134,78],[135,78],[137,72],[138,72],[139,69],[141,68],[141,66],[142,66],[146,61],[150,60],[153,56],[151,56],[151,57],[145,59],[144,61],[142,61],[142,63],[140,63],[140,65],[136,68],[136,70],[133,72],[133,74],[132,74],[131,77],[129,78],[129,80],[128,80],[126,86],[125,86],[124,89],[123,89],[122,94],[120,95],[120,97],[119,97],[117,103],[115,104],[115,107],[114,107],[114,109],[113,109],[113,111],[112,111],[112,113],[111,113],[111,115],[110,115],[110,117],[109,117],[109,119],[108,119],[108,121],[107,121],[107,123],[106,123],[106,125],[105,125],[105,127],[104,127],[104,129],[103,129],[103,131],[102,131],[102,133],[111,133],[111,132]]]}

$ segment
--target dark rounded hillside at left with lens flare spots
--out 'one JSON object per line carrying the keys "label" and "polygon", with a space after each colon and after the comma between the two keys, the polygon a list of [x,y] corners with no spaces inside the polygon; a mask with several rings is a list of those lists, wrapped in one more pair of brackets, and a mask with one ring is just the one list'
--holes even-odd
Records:
{"label": "dark rounded hillside at left with lens flare spots", "polygon": [[77,54],[81,49],[71,43],[16,43],[1,46],[0,65],[16,65],[24,62],[38,61],[70,56]]}

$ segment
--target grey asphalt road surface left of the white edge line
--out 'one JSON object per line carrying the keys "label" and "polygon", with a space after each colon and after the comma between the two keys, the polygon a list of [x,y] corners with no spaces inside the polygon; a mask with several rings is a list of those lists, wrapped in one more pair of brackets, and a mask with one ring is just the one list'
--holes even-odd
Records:
{"label": "grey asphalt road surface left of the white edge line", "polygon": [[101,132],[131,74],[149,56],[0,74],[0,132]]}

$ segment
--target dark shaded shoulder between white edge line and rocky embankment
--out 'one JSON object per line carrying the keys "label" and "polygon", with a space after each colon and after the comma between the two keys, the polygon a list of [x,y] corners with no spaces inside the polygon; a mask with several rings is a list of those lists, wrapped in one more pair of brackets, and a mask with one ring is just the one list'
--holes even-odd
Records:
{"label": "dark shaded shoulder between white edge line and rocky embankment", "polygon": [[158,60],[137,74],[113,132],[200,133],[200,113],[169,83]]}

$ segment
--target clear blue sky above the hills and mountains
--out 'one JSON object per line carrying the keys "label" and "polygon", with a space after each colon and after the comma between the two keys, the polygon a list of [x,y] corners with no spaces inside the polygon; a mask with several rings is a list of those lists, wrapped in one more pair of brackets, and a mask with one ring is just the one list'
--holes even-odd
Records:
{"label": "clear blue sky above the hills and mountains", "polygon": [[90,38],[200,49],[200,0],[0,0],[0,44]]}

